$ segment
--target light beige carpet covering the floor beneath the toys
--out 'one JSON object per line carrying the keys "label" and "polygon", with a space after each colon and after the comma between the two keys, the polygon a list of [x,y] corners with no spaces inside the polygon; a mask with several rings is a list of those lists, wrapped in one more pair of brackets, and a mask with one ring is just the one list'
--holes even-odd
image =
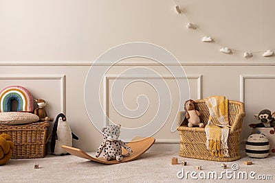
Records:
{"label": "light beige carpet covering the floor beneath the toys", "polygon": [[[170,162],[172,157],[177,157],[180,161],[186,160],[187,166],[172,165]],[[245,165],[243,164],[245,160],[251,160],[254,164]],[[34,169],[36,163],[39,164],[39,169]],[[230,179],[225,174],[221,180],[199,178],[201,171],[206,175],[209,171],[217,171],[219,177],[221,171],[232,171],[231,166],[234,163],[239,165],[235,173],[246,171],[248,180],[234,179],[234,177]],[[114,165],[99,164],[72,155],[47,155],[45,158],[34,160],[10,160],[8,164],[0,166],[0,182],[272,182],[272,180],[252,180],[249,178],[251,171],[256,172],[255,178],[258,178],[258,175],[272,175],[275,179],[275,156],[252,159],[242,153],[241,160],[226,164],[228,169],[221,169],[221,162],[181,158],[177,156],[177,151],[150,151],[132,162]],[[197,165],[201,165],[201,171],[195,169]],[[177,178],[177,173],[181,169],[184,169],[185,173],[195,171],[197,175],[194,177],[198,179],[192,179],[190,174],[188,178]]]}

